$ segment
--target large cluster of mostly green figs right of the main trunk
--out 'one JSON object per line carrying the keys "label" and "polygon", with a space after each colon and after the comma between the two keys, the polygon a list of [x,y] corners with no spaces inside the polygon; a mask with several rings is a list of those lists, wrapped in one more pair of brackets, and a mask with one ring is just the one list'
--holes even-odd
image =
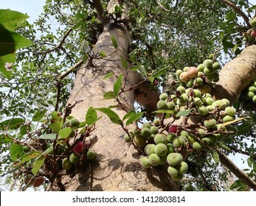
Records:
{"label": "large cluster of mostly green figs right of the main trunk", "polygon": [[[165,121],[155,118],[142,127],[128,130],[124,139],[144,149],[140,163],[144,168],[168,164],[167,172],[173,180],[180,181],[191,172],[184,153],[203,152],[218,146],[224,138],[232,138],[238,132],[232,126],[236,110],[228,99],[214,99],[212,87],[218,82],[221,65],[204,60],[197,67],[185,67],[176,71],[178,84],[159,96],[157,108],[165,114]],[[198,124],[166,123],[179,118],[194,119]]]}

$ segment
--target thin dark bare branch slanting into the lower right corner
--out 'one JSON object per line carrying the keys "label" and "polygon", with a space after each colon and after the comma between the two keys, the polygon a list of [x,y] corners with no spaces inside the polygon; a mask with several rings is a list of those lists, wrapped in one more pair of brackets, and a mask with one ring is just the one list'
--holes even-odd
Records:
{"label": "thin dark bare branch slanting into the lower right corner", "polygon": [[250,188],[256,191],[256,182],[251,180],[244,171],[242,171],[231,160],[229,160],[229,158],[226,157],[226,155],[222,153],[220,149],[216,148],[215,150],[216,152],[218,152],[218,155],[221,160],[221,164],[226,166],[226,168],[229,168],[229,170],[232,171],[232,173],[235,174],[236,177],[238,177],[246,185],[248,185]]}

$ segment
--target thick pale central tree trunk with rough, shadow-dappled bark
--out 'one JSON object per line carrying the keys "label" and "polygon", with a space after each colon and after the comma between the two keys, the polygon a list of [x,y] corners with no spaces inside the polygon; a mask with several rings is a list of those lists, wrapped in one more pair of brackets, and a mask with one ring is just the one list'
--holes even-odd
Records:
{"label": "thick pale central tree trunk with rough, shadow-dappled bark", "polygon": [[[118,48],[115,51],[111,42],[111,35],[118,41]],[[121,26],[106,27],[100,35],[96,44],[97,51],[104,51],[107,57],[104,60],[94,60],[93,66],[83,68],[78,71],[75,85],[72,89],[69,102],[77,104],[72,110],[72,116],[84,120],[86,110],[89,107],[108,107],[117,105],[112,99],[105,100],[105,92],[113,90],[115,78],[104,80],[103,77],[109,71],[116,75],[125,70],[120,63],[120,55],[128,56],[128,46],[131,43],[130,35]],[[129,88],[138,84],[141,77],[138,73],[128,74]],[[140,85],[137,90],[143,88]],[[138,92],[138,91],[137,91]],[[142,91],[139,91],[142,93]],[[148,91],[146,91],[149,93]],[[130,90],[123,96],[127,108],[133,108],[134,90]],[[142,98],[148,104],[147,97]],[[142,101],[142,102],[143,102]],[[125,115],[123,110],[113,109],[119,116]],[[133,145],[125,143],[122,138],[124,131],[120,125],[111,123],[108,117],[99,113],[103,118],[97,123],[97,129],[92,135],[97,135],[98,141],[92,149],[98,154],[97,162],[91,163],[91,171],[86,168],[75,177],[66,175],[63,177],[63,184],[66,191],[177,191],[176,182],[167,176],[167,168],[153,168],[148,171],[139,164],[139,154]]]}

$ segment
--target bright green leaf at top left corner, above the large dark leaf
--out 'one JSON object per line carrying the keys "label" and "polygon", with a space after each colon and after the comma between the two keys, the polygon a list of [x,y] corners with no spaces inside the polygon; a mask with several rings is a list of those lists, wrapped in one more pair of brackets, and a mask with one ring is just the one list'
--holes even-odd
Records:
{"label": "bright green leaf at top left corner, above the large dark leaf", "polygon": [[13,10],[0,10],[0,24],[9,30],[14,30],[21,21],[27,18],[29,18],[28,15]]}

